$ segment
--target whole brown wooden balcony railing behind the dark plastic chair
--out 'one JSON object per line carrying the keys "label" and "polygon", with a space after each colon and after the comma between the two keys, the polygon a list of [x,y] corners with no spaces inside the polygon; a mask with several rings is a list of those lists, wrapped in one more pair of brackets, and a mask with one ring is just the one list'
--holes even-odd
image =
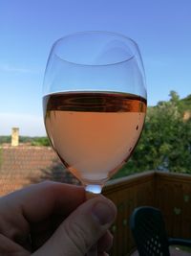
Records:
{"label": "whole brown wooden balcony railing behind the dark plastic chair", "polygon": [[129,228],[133,210],[142,205],[161,209],[168,235],[191,238],[191,175],[147,172],[108,182],[103,190],[117,205],[112,256],[130,255],[135,244]]}

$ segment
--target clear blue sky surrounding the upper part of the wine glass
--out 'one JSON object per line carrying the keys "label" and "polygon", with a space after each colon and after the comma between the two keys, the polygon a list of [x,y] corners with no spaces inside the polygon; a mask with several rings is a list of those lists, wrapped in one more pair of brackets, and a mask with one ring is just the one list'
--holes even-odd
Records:
{"label": "clear blue sky surrounding the upper part of the wine glass", "polygon": [[137,41],[148,105],[191,93],[190,0],[0,0],[0,135],[45,135],[42,82],[53,42],[78,31]]}

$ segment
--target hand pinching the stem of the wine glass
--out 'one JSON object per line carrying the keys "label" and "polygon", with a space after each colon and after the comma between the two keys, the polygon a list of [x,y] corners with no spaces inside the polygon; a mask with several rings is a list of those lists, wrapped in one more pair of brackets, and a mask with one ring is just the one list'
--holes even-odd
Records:
{"label": "hand pinching the stem of the wine glass", "polygon": [[86,200],[82,187],[32,185],[0,198],[0,255],[84,256],[96,243],[107,255],[116,212],[107,198]]}

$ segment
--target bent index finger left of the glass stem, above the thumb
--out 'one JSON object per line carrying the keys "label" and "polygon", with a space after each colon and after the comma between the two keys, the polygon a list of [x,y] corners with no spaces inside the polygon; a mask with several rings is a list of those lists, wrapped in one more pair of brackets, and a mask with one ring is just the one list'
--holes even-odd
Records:
{"label": "bent index finger left of the glass stem, above the thumb", "polygon": [[41,221],[53,213],[69,215],[85,201],[84,189],[80,186],[46,181],[14,192],[7,197],[19,207],[27,221]]}

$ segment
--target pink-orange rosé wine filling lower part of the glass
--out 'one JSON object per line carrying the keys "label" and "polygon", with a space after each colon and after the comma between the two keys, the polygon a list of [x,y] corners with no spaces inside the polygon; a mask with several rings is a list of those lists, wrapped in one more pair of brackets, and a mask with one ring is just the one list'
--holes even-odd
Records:
{"label": "pink-orange ros\u00e9 wine filling lower part of the glass", "polygon": [[106,181],[128,160],[146,113],[145,99],[125,93],[54,93],[43,104],[54,151],[83,183]]}

